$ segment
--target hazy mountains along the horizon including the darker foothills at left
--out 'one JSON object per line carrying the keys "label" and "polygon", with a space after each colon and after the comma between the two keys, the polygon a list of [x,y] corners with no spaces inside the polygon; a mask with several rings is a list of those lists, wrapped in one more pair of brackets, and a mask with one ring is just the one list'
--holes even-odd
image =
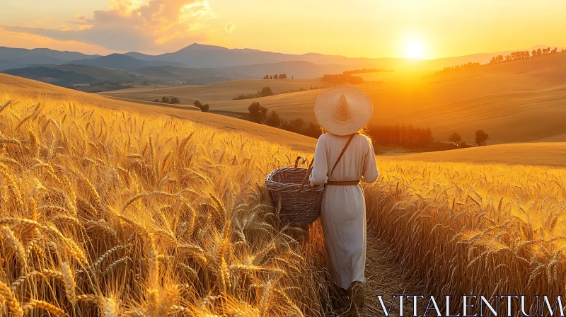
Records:
{"label": "hazy mountains along the horizon including the darker foothills at left", "polygon": [[[545,46],[530,47],[528,50],[538,47]],[[512,51],[442,59],[370,59],[316,53],[282,54],[201,44],[192,44],[177,52],[159,55],[129,52],[108,56],[50,49],[26,50],[0,47],[0,71],[59,85],[107,81],[109,74],[110,78],[117,82],[128,80],[133,82],[133,79],[141,77],[141,79],[151,79],[158,83],[183,81],[198,84],[230,79],[260,78],[266,74],[283,73],[289,77],[313,78],[363,67],[395,69],[395,71],[433,71],[468,62],[486,64],[493,56],[505,55],[509,52]],[[64,65],[75,66],[63,67]],[[122,72],[112,72],[108,69]],[[150,74],[144,74],[147,72]],[[81,80],[83,82],[80,82]]]}

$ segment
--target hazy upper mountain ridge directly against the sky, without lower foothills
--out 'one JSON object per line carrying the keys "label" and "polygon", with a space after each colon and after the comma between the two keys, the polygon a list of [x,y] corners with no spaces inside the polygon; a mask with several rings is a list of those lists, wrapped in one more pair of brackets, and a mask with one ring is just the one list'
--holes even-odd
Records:
{"label": "hazy upper mountain ridge directly against the sky, without lower foothills", "polygon": [[[538,45],[526,50],[533,50]],[[311,62],[313,64],[342,64],[363,67],[434,70],[446,66],[467,62],[487,63],[497,54],[509,54],[512,51],[470,54],[441,59],[402,59],[402,58],[352,58],[318,53],[283,54],[251,49],[229,49],[214,45],[192,44],[173,53],[148,55],[139,52],[126,54],[87,55],[79,52],[60,52],[45,48],[26,50],[21,48],[0,47],[0,70],[26,67],[38,64],[86,64],[93,66],[129,69],[150,66],[190,66],[190,67],[236,67],[253,64],[271,64],[278,62]],[[128,58],[131,57],[131,58]],[[96,61],[88,62],[88,60]],[[141,61],[141,62],[139,62]],[[149,62],[149,64],[144,63]],[[126,66],[125,66],[126,65]]]}

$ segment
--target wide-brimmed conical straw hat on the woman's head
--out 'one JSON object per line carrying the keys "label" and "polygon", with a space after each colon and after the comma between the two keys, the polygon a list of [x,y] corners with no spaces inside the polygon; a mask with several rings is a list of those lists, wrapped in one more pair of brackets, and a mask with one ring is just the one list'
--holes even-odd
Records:
{"label": "wide-brimmed conical straw hat on the woman's head", "polygon": [[373,110],[369,97],[352,86],[330,88],[314,103],[316,120],[335,135],[358,132],[369,121]]}

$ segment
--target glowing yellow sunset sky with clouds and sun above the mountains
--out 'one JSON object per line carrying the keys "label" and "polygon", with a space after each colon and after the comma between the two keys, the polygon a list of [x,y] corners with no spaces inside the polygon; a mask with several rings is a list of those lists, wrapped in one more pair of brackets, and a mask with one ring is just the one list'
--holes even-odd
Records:
{"label": "glowing yellow sunset sky with clouds and sun above the mountains", "polygon": [[566,47],[563,0],[0,0],[0,46],[86,54],[192,43],[436,59]]}

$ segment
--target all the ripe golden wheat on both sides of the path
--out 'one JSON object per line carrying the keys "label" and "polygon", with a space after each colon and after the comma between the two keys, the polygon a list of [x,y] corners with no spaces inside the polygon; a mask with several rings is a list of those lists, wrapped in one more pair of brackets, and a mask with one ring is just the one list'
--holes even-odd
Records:
{"label": "all the ripe golden wheat on both sides of the path", "polygon": [[[279,221],[264,186],[311,154],[294,150],[303,137],[277,144],[248,122],[236,132],[81,96],[0,93],[0,315],[332,313],[320,226]],[[378,166],[370,236],[427,294],[565,292],[564,169]]]}

